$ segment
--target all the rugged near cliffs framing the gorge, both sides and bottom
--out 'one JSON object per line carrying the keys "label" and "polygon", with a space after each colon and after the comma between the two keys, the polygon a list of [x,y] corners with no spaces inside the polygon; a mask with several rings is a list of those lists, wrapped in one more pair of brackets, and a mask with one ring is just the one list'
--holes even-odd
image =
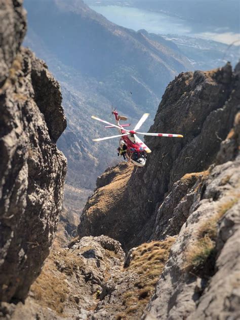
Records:
{"label": "all the rugged near cliffs framing the gorge, both sides and bottom", "polygon": [[145,168],[107,169],[79,237],[46,259],[61,213],[66,159],[56,141],[66,120],[46,64],[20,48],[21,1],[0,9],[0,317],[239,318],[240,66],[176,77],[151,131],[184,138],[148,138]]}

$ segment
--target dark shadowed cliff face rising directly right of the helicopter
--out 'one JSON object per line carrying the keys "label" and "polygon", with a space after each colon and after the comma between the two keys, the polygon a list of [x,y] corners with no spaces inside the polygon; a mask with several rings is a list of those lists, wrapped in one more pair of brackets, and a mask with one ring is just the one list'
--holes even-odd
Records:
{"label": "dark shadowed cliff face rising directly right of the helicopter", "polygon": [[[169,84],[150,132],[181,133],[184,138],[147,137],[146,144],[152,150],[147,165],[133,170],[119,196],[112,189],[114,198],[109,197],[107,206],[97,211],[92,205],[97,198],[104,203],[105,195],[101,196],[101,188],[95,190],[78,226],[80,236],[104,233],[118,239],[124,249],[151,236],[157,210],[174,183],[187,173],[207,170],[215,162],[239,109],[237,70],[232,72],[228,63],[212,71],[181,73]],[[194,179],[188,177],[174,186],[179,196],[191,187]],[[121,204],[115,201],[119,198]],[[109,225],[107,217],[114,223]],[[178,231],[179,228],[175,234]]]}

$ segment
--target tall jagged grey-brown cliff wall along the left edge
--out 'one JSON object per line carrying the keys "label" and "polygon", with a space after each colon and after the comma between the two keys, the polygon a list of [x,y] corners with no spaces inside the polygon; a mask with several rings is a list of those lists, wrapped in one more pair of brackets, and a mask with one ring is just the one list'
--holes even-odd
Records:
{"label": "tall jagged grey-brown cliff wall along the left edge", "polygon": [[[0,1],[0,300],[24,300],[49,254],[62,208],[66,127],[59,84],[19,49],[21,1]],[[7,31],[6,31],[7,30]]]}

